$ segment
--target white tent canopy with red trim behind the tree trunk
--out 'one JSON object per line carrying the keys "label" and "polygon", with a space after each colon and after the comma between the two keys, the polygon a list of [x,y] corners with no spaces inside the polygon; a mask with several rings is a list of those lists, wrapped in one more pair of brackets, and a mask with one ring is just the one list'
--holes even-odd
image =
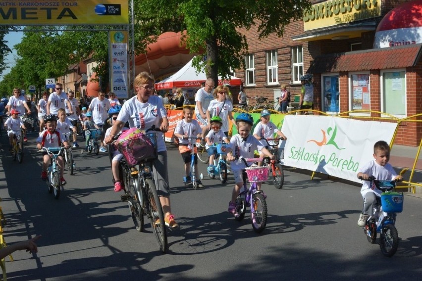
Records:
{"label": "white tent canopy with red trim behind the tree trunk", "polygon": [[[207,80],[207,76],[205,72],[196,72],[195,68],[192,66],[192,60],[193,59],[170,77],[156,83],[156,89],[200,88],[201,83]],[[221,80],[221,77],[218,77],[218,85],[229,84],[231,86],[240,86],[241,83],[242,81],[239,78],[233,76],[230,76],[230,79],[227,80]]]}

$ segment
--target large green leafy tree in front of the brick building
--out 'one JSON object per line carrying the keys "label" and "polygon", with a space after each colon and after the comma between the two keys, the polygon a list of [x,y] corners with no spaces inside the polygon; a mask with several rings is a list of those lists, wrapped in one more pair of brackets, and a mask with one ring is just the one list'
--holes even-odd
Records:
{"label": "large green leafy tree in front of the brick building", "polygon": [[240,28],[258,25],[260,39],[272,33],[282,36],[284,27],[301,19],[310,6],[308,0],[137,0],[135,19],[144,38],[186,30],[190,52],[204,52],[205,48],[205,60],[197,56],[193,65],[217,81],[218,74],[227,77],[230,68],[244,68],[248,44]]}

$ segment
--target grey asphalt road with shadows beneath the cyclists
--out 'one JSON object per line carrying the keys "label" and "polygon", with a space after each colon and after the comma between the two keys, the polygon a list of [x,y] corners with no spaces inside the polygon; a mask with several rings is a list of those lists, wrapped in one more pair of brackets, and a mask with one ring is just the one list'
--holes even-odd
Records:
{"label": "grey asphalt road with shadows beneath the cyclists", "polygon": [[[80,142],[81,143],[81,142]],[[75,151],[75,175],[65,174],[60,199],[40,179],[35,136],[22,164],[1,138],[0,197],[8,244],[42,234],[38,253],[6,257],[7,279],[27,280],[421,280],[422,199],[405,196],[396,227],[402,240],[392,258],[382,256],[357,226],[360,187],[287,169],[283,189],[264,184],[268,224],[256,234],[249,215],[236,222],[227,212],[233,177],[205,189],[182,186],[183,164],[168,145],[172,211],[181,229],[169,233],[167,254],[158,252],[149,222],[139,233],[127,203],[113,191],[106,153]],[[206,165],[199,164],[205,172]]]}

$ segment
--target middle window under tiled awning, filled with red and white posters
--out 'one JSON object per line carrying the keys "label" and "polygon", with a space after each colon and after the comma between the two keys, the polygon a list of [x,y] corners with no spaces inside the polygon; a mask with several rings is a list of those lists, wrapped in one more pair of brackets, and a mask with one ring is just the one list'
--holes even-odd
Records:
{"label": "middle window under tiled awning, filled with red and white posters", "polygon": [[[370,110],[369,73],[354,73],[350,75],[351,110]],[[364,112],[357,115],[369,115]]]}

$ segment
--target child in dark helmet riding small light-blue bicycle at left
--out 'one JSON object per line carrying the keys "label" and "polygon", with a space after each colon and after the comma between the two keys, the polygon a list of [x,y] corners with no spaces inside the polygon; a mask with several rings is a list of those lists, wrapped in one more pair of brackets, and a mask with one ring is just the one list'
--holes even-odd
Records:
{"label": "child in dark helmet riding small light-blue bicycle at left", "polygon": [[[46,115],[44,116],[44,122],[46,130],[40,133],[40,136],[37,139],[37,148],[41,149],[43,147],[60,147],[60,144],[63,143],[64,147],[68,149],[70,147],[68,141],[64,138],[63,134],[55,129],[57,125],[57,117],[55,115]],[[56,152],[58,153],[58,151]],[[43,152],[43,170],[41,172],[41,179],[43,181],[47,180],[47,167],[50,164],[50,155],[47,152]],[[60,155],[57,157],[57,165],[60,170],[60,182],[61,185],[65,185],[66,181],[63,178],[63,157]]]}

